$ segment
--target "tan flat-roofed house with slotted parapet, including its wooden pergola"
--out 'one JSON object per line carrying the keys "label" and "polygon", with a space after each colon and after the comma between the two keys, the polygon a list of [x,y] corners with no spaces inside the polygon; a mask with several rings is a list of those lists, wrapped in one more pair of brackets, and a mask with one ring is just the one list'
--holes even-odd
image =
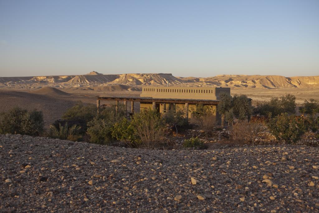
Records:
{"label": "tan flat-roofed house with slotted parapet, including its wooden pergola", "polygon": [[119,101],[123,101],[124,105],[131,102],[131,112],[134,112],[134,102],[140,103],[140,110],[156,109],[163,114],[168,111],[184,110],[186,117],[190,121],[194,121],[191,114],[191,109],[196,107],[196,104],[212,106],[217,120],[220,119],[217,113],[217,104],[219,103],[219,94],[230,94],[230,88],[226,87],[142,87],[140,97],[98,97],[97,107],[100,109],[101,100],[115,101],[115,107],[118,109]]}

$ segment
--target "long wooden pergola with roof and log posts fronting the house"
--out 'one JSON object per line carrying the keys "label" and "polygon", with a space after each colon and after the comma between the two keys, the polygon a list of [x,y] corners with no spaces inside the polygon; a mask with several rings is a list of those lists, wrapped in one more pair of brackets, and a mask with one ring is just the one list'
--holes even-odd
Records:
{"label": "long wooden pergola with roof and log posts fronting the house", "polygon": [[[96,106],[98,113],[100,112],[100,101],[115,101],[115,110],[118,111],[119,101],[123,101],[126,112],[127,112],[127,102],[131,102],[131,112],[134,112],[134,102],[140,103],[152,103],[152,108],[156,109],[156,103],[180,103],[185,104],[185,111],[188,112],[189,104],[204,104],[204,105],[217,105],[218,100],[201,100],[201,99],[172,99],[172,98],[152,98],[152,97],[97,97]],[[127,114],[127,113],[126,113]],[[188,115],[188,113],[186,113]],[[188,116],[187,116],[188,117]]]}

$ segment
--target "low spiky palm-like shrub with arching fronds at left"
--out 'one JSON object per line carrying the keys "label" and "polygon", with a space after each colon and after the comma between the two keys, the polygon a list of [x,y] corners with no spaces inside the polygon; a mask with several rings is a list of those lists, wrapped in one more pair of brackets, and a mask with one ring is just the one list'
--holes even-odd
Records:
{"label": "low spiky palm-like shrub with arching fronds at left", "polygon": [[54,125],[50,125],[50,135],[53,138],[69,141],[79,141],[82,136],[79,134],[81,127],[77,125],[70,126],[68,123],[62,125],[59,123],[57,128]]}

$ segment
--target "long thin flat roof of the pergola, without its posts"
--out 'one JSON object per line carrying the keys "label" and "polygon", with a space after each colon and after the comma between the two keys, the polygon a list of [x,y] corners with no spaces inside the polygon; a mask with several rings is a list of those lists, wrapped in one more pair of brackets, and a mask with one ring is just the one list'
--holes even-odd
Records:
{"label": "long thin flat roof of the pergola, without its posts", "polygon": [[152,98],[152,97],[101,97],[98,96],[97,100],[105,101],[139,101],[139,102],[157,102],[157,103],[190,103],[190,104],[213,104],[217,105],[219,100],[205,100],[205,99],[178,99],[178,98]]}

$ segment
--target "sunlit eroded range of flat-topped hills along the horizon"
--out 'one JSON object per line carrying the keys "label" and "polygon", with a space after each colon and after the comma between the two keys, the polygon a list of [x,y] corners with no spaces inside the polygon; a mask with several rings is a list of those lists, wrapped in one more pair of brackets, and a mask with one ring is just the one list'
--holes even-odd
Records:
{"label": "sunlit eroded range of flat-topped hills along the horizon", "polygon": [[232,88],[319,88],[319,76],[284,77],[279,75],[217,75],[208,78],[175,77],[167,73],[110,74],[90,72],[76,76],[2,77],[2,86],[14,84],[55,85],[170,85],[212,86]]}

